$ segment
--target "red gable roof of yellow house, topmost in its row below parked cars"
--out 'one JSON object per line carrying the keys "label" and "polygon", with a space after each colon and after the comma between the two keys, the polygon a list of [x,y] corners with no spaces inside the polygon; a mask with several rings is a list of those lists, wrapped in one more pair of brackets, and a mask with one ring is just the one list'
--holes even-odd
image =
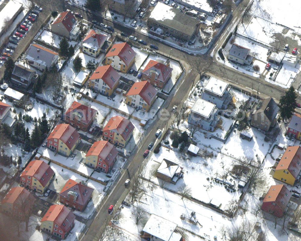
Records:
{"label": "red gable roof of yellow house, topmost in its row below parked cars", "polygon": [[136,52],[128,43],[114,44],[106,57],[118,56],[128,66],[135,58]]}

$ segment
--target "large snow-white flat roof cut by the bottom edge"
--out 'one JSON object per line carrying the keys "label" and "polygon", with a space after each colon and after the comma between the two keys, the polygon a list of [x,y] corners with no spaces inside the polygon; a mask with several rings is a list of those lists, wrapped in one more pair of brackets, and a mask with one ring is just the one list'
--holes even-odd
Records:
{"label": "large snow-white flat roof cut by the bottom edge", "polygon": [[[181,235],[176,236],[173,234],[177,226],[172,221],[152,214],[142,231],[154,235],[163,241],[179,241]],[[179,239],[175,239],[175,237],[179,237]]]}

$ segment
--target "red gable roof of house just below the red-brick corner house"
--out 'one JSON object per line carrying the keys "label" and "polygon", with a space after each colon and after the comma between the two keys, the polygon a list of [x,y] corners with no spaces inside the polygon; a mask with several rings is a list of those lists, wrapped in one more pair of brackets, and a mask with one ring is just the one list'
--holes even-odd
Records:
{"label": "red gable roof of house just below the red-brick corner house", "polygon": [[126,96],[139,94],[141,98],[150,105],[152,100],[156,98],[158,91],[147,80],[141,82],[135,82],[130,88]]}

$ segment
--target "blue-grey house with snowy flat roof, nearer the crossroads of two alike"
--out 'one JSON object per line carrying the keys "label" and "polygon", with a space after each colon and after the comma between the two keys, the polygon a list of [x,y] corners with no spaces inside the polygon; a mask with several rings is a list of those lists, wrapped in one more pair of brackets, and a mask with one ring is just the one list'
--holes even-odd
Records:
{"label": "blue-grey house with snowy flat roof, nearer the crossroads of two alike", "polygon": [[214,77],[210,77],[205,85],[201,98],[216,105],[216,108],[225,110],[232,100],[231,86]]}

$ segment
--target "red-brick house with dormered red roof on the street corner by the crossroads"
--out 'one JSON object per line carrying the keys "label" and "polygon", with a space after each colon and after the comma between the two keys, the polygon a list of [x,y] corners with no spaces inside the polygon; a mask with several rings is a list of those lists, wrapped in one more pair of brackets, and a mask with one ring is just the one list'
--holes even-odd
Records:
{"label": "red-brick house with dormered red roof on the street corner by the crossroads", "polygon": [[142,71],[143,80],[148,80],[152,85],[163,88],[170,79],[172,68],[169,67],[169,61],[165,65],[163,61],[150,60]]}

